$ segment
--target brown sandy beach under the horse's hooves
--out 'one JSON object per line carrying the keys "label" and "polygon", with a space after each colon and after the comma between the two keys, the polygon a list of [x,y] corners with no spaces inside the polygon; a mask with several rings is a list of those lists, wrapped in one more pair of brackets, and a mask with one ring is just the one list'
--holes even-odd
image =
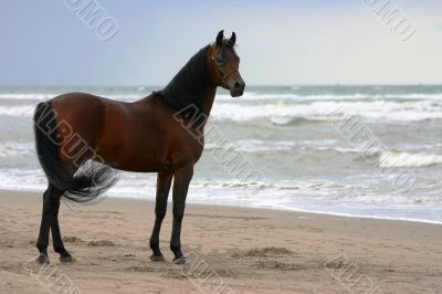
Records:
{"label": "brown sandy beach under the horse's hooves", "polygon": [[[190,196],[191,197],[191,196]],[[171,262],[171,213],[149,260],[150,201],[62,204],[75,263],[34,263],[41,196],[0,191],[0,293],[442,293],[442,225],[188,204],[185,266]],[[170,208],[170,203],[169,203]]]}

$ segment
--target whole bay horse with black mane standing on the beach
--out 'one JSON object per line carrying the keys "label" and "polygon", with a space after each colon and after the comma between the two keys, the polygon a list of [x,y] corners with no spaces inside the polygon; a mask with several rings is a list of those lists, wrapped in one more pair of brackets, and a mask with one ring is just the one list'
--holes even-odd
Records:
{"label": "whole bay horse with black mane standing on the beach", "polygon": [[[113,170],[118,169],[158,174],[151,261],[165,260],[159,233],[173,179],[170,249],[175,263],[186,263],[180,242],[186,197],[193,166],[203,150],[202,132],[217,87],[228,90],[232,97],[241,96],[245,87],[235,40],[234,32],[224,39],[220,31],[215,42],[194,54],[165,88],[133,103],[67,93],[36,106],[35,146],[49,182],[36,241],[38,262],[50,262],[50,230],[60,261],[74,261],[60,232],[60,200],[96,199],[115,183]],[[186,122],[191,124],[183,127]]]}

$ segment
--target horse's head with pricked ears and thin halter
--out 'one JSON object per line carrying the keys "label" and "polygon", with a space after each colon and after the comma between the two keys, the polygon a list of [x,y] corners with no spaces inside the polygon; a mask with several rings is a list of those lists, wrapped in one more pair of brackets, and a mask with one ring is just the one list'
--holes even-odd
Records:
{"label": "horse's head with pricked ears and thin halter", "polygon": [[221,31],[210,50],[212,80],[218,86],[229,90],[232,97],[241,96],[245,87],[239,72],[240,57],[234,51],[235,41],[234,32],[230,39],[224,39],[224,32]]}

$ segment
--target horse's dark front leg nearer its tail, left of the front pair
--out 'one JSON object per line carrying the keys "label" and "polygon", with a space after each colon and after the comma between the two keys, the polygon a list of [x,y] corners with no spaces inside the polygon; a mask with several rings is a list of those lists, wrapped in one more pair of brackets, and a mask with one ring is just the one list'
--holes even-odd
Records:
{"label": "horse's dark front leg nearer its tail, left of the front pair", "polygon": [[169,196],[172,177],[173,174],[170,172],[158,172],[157,197],[155,201],[155,224],[150,237],[150,249],[152,250],[152,255],[150,255],[151,261],[165,260],[161,251],[159,250],[159,231],[161,230],[161,223],[166,216],[167,198]]}

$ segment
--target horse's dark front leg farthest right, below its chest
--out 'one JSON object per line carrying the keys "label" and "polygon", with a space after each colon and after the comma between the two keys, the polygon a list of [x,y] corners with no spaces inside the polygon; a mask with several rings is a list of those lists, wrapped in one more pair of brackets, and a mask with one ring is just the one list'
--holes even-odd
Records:
{"label": "horse's dark front leg farthest right, below its chest", "polygon": [[185,264],[186,259],[181,252],[181,223],[185,216],[186,197],[190,180],[193,176],[193,166],[187,166],[176,171],[173,178],[173,222],[170,249],[175,254],[173,263]]}

